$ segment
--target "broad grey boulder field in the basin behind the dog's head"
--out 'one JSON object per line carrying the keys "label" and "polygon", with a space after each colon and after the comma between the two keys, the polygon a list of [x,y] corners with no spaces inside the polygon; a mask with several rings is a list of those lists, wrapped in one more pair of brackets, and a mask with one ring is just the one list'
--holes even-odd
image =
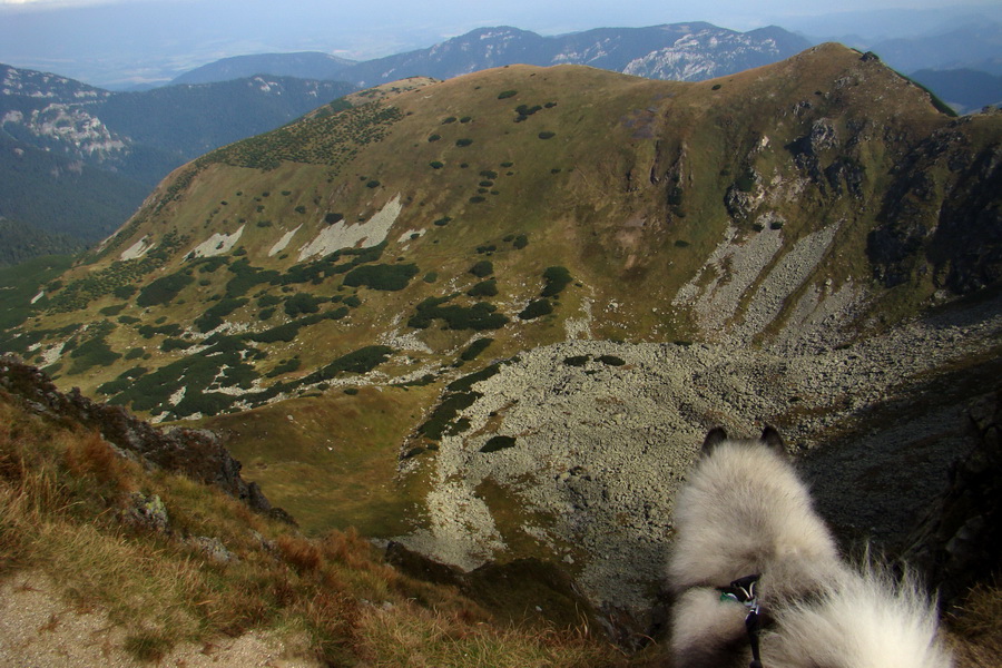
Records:
{"label": "broad grey boulder field in the basin behind the dog's head", "polygon": [[[773,423],[821,483],[835,527],[893,547],[963,453],[963,397],[936,397],[917,418],[874,413],[920,401],[929,379],[972,358],[990,374],[1000,341],[994,298],[815,352],[599,341],[534,348],[473,385],[482,396],[456,416],[469,426],[444,436],[433,459],[404,460],[405,471],[432,468],[435,483],[429,528],[402,541],[470,569],[505,559],[528,537],[577,572],[593,601],[648,609],[671,542],[671,499],[706,430]],[[484,452],[498,435],[509,446]],[[902,459],[915,456],[916,441],[925,441],[921,461]],[[485,484],[508,499],[485,494]],[[511,504],[521,523],[501,527]]]}

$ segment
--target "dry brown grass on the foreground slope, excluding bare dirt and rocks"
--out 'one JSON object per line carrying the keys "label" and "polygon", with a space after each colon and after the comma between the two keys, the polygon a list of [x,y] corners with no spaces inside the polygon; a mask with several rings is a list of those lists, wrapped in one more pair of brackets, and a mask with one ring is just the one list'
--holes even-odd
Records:
{"label": "dry brown grass on the foreground slope, excluding bare dirt and rocks", "polygon": [[[159,497],[170,531],[124,523],[131,492]],[[234,559],[213,561],[188,537]],[[95,432],[21,411],[0,392],[0,577],[32,569],[124,647],[156,661],[179,642],[250,629],[306,637],[332,666],[611,666],[581,632],[500,623],[456,590],[383,563],[354,530],[306,538],[218,490],[148,473]]]}

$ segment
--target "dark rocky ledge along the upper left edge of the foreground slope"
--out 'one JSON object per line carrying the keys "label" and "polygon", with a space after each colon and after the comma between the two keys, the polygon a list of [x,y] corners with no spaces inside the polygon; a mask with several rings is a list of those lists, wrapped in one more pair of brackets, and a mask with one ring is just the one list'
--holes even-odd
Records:
{"label": "dark rocky ledge along the upper left edge of the foreground slope", "polygon": [[76,387],[63,394],[45,373],[12,357],[0,357],[0,387],[35,413],[98,430],[126,453],[214,484],[258,512],[292,521],[284,510],[272,507],[257,483],[240,478],[240,462],[208,430],[177,428],[164,433],[120,406],[87,399]]}

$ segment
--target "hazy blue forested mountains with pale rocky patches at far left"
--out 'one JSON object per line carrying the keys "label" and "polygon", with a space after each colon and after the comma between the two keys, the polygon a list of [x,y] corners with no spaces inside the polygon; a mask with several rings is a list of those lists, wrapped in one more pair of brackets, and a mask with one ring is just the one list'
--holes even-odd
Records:
{"label": "hazy blue forested mountains with pale rocky patches at far left", "polygon": [[111,92],[0,65],[0,216],[78,243],[118,228],[171,169],[353,90],[261,76]]}

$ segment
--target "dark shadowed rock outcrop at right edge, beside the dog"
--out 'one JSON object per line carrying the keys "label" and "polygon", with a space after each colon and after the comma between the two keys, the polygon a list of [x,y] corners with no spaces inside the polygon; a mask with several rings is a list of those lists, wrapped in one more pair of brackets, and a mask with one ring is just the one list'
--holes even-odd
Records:
{"label": "dark shadowed rock outcrop at right edge, beside the dog", "polygon": [[969,415],[974,446],[915,531],[906,558],[949,605],[1002,563],[1002,389]]}

